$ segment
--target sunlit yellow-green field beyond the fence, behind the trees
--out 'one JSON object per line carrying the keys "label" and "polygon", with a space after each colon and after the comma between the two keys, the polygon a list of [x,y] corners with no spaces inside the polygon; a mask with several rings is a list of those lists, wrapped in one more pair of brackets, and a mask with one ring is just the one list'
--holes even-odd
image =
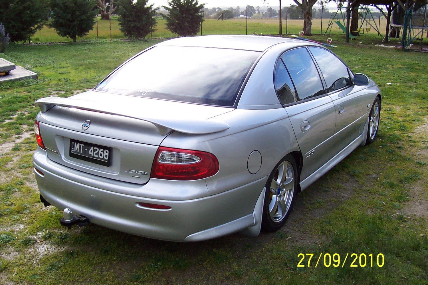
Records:
{"label": "sunlit yellow-green field beyond the fence, behind the trees", "polygon": [[[99,17],[98,17],[99,18]],[[324,34],[327,29],[329,19],[323,19],[322,23],[322,33]],[[372,23],[373,24],[373,23]],[[380,23],[380,33],[385,34],[385,25],[386,21],[381,21]],[[339,32],[337,29],[337,25],[334,24],[331,29],[331,35],[343,35],[342,32]],[[366,24],[363,25],[366,27]],[[283,20],[282,21],[282,33],[288,34],[298,34],[300,30],[303,28],[303,20],[289,20],[288,23]],[[158,24],[155,27],[156,31],[153,33],[153,38],[171,38],[176,35],[169,32],[165,28],[165,21],[161,18],[158,18]],[[119,30],[119,24],[115,17],[112,18],[111,21],[111,36],[113,39],[123,39],[125,36]],[[217,21],[217,20],[205,20],[202,23],[202,35],[216,35],[216,34],[241,34],[245,35],[245,33],[250,34],[278,34],[279,33],[279,19],[266,18],[266,19],[248,19],[248,29],[247,23],[245,19],[231,19],[225,21]],[[312,20],[312,33],[320,34],[321,32],[321,19],[313,19]],[[200,35],[200,33],[199,33]],[[371,36],[377,36],[377,33],[371,29],[369,32]],[[149,34],[147,36],[151,38],[152,35]],[[328,36],[325,36],[327,39]],[[95,24],[94,29],[89,33],[88,36],[84,38],[78,38],[78,41],[82,40],[94,40],[97,39],[97,24]],[[110,23],[109,21],[98,19],[98,39],[110,39]],[[360,36],[359,39],[366,39],[366,36]],[[378,39],[381,40],[379,37]],[[31,41],[36,42],[68,42],[71,39],[62,38],[55,33],[55,30],[49,27],[44,27],[41,31],[37,32],[32,38]]]}

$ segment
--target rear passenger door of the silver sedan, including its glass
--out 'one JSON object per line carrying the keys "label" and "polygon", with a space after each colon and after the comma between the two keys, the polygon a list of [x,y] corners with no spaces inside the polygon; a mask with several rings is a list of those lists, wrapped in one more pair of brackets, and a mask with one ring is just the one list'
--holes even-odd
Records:
{"label": "rear passenger door of the silver sedan, including its glass", "polygon": [[[284,83],[287,87],[283,87]],[[325,94],[318,70],[306,47],[282,54],[276,65],[275,88],[288,113],[303,155],[300,181],[332,157],[335,108]],[[283,90],[288,92],[282,94]]]}

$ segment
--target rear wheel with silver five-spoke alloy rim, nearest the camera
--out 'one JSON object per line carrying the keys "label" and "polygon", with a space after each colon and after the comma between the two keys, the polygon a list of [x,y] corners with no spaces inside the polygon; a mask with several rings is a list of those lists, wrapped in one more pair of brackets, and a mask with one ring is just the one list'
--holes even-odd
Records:
{"label": "rear wheel with silver five-spoke alloy rim, nearest the camera", "polygon": [[266,182],[262,227],[268,232],[280,229],[291,212],[297,190],[297,167],[291,154],[273,169]]}

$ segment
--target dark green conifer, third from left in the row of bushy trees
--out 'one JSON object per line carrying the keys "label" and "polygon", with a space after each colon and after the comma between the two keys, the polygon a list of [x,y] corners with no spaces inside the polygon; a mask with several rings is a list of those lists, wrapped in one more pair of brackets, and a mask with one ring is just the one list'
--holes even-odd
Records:
{"label": "dark green conifer, third from left in the row of bushy trees", "polygon": [[154,32],[156,9],[147,6],[147,0],[119,0],[119,26],[129,39],[143,39]]}

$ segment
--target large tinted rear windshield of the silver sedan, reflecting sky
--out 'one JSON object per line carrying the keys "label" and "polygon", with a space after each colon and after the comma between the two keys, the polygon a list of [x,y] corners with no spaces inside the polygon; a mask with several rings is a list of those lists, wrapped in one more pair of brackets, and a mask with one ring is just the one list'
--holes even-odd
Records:
{"label": "large tinted rear windshield of the silver sedan, reflecting sky", "polygon": [[158,46],[141,53],[95,90],[215,106],[233,106],[259,52]]}

